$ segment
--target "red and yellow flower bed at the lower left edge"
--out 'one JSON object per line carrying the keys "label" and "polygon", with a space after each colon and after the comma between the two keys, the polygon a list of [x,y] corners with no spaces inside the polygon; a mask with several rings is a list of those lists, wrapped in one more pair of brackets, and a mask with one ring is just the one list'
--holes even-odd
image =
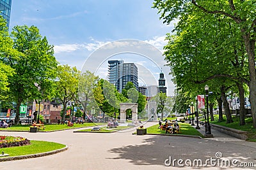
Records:
{"label": "red and yellow flower bed at the lower left edge", "polygon": [[22,138],[20,136],[0,136],[0,148],[8,148],[23,145],[30,145],[29,139]]}

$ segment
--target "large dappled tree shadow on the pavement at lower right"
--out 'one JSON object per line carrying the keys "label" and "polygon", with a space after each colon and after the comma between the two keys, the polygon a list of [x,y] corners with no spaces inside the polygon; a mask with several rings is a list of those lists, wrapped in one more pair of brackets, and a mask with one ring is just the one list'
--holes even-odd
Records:
{"label": "large dappled tree shadow on the pavement at lower right", "polygon": [[[141,145],[122,146],[120,148],[113,148],[109,152],[116,153],[118,156],[108,159],[125,159],[129,160],[132,164],[144,166],[165,166],[164,161],[170,159],[170,157],[172,161],[174,159],[182,159],[184,162],[186,159],[192,162],[195,159],[200,159],[202,164],[205,164],[205,160],[211,158],[218,161],[218,157],[216,157],[217,152],[222,154],[222,159],[231,161],[232,159],[237,159],[240,162],[253,162],[256,164],[256,150],[248,146],[178,136],[150,136],[150,138],[144,139]],[[211,166],[209,162],[207,164]],[[177,161],[175,162],[175,167],[179,167]],[[224,166],[221,168],[225,169],[228,167]]]}

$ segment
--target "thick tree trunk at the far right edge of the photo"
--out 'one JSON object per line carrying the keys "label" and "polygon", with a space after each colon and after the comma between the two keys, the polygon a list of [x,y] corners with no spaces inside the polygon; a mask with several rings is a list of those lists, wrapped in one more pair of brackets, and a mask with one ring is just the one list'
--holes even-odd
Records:
{"label": "thick tree trunk at the far right edge of the photo", "polygon": [[[253,29],[254,33],[256,29]],[[250,73],[250,103],[252,108],[253,127],[256,128],[256,71],[255,71],[255,39],[251,39],[251,32],[241,29],[244,45],[248,55],[248,66]]]}

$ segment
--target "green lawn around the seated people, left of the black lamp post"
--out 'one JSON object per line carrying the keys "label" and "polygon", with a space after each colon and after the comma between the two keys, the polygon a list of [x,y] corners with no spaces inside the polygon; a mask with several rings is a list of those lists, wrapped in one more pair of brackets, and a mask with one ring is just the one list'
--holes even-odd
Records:
{"label": "green lawn around the seated people, left of the black lamp post", "polygon": [[[180,133],[177,135],[183,134],[183,135],[191,135],[191,136],[200,136],[204,138],[200,132],[198,132],[194,127],[192,127],[190,124],[186,123],[179,123],[180,125]],[[159,125],[153,125],[151,127],[147,128],[148,134],[165,134],[165,131],[158,129]]]}

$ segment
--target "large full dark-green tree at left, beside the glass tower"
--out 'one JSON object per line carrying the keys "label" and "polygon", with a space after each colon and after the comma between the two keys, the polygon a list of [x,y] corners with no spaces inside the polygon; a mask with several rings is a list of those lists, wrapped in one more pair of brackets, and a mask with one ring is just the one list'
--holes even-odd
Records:
{"label": "large full dark-green tree at left, beside the glass tower", "polygon": [[[49,86],[56,77],[57,61],[53,55],[53,46],[48,44],[35,26],[14,27],[12,38],[13,48],[19,55],[6,56],[4,62],[15,69],[15,74],[9,80],[9,88],[10,96],[17,104],[15,124],[19,124],[20,104],[49,95]],[[41,92],[38,92],[35,83]]]}

